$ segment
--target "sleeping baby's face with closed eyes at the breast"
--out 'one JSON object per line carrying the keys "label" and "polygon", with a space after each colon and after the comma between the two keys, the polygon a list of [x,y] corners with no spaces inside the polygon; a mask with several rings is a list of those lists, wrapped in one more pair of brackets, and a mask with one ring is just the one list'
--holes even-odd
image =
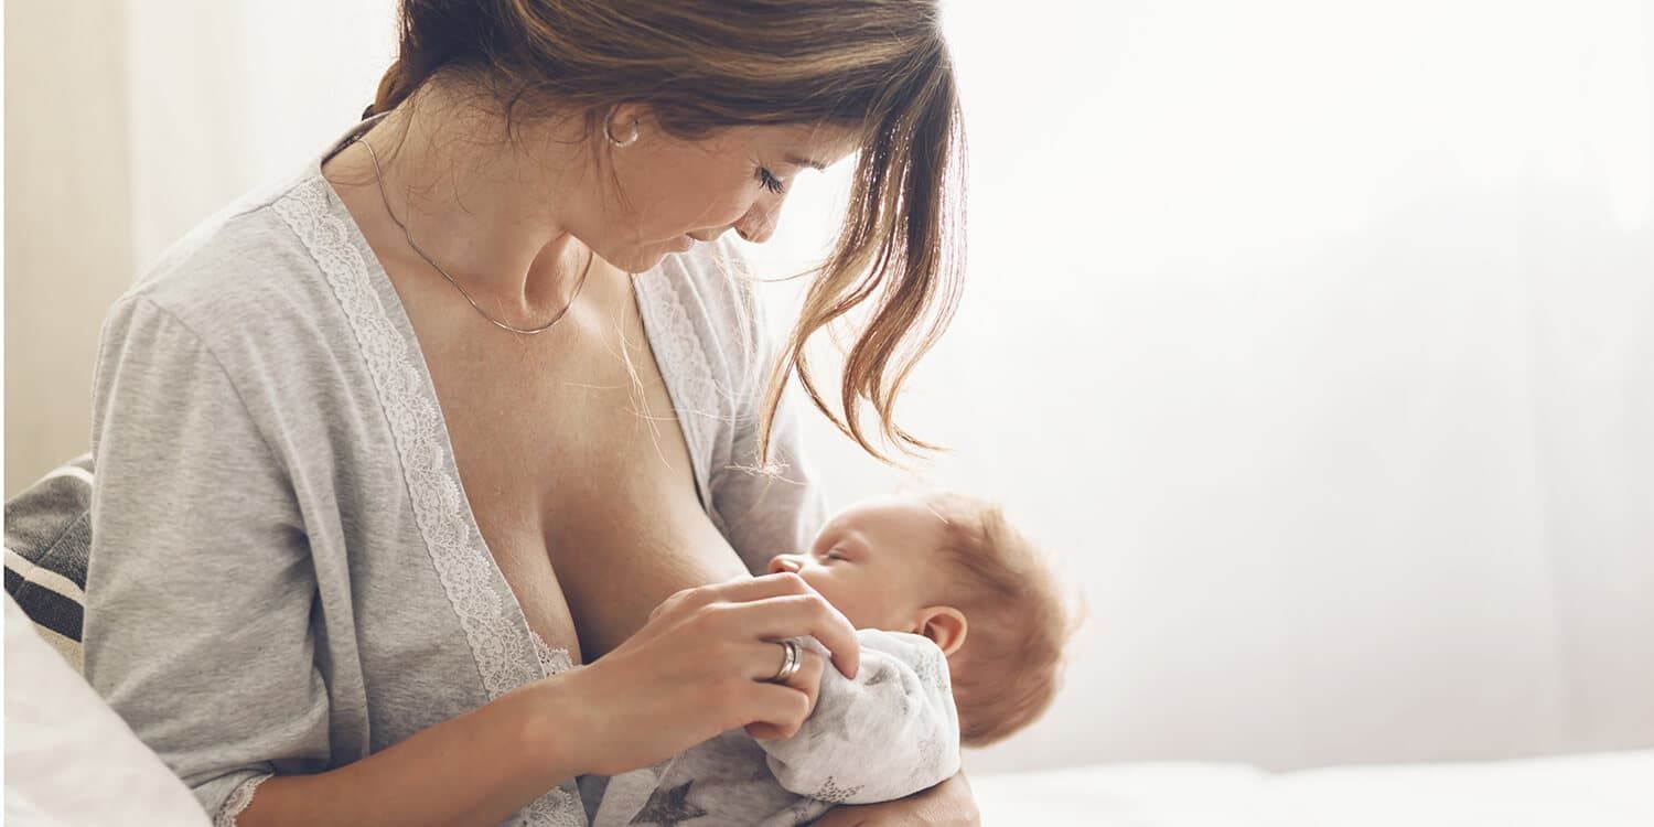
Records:
{"label": "sleeping baby's face with closed eyes at the breast", "polygon": [[791,571],[857,629],[918,632],[920,609],[941,595],[946,541],[939,516],[916,500],[877,500],[840,511],[805,554],[781,554],[769,571]]}

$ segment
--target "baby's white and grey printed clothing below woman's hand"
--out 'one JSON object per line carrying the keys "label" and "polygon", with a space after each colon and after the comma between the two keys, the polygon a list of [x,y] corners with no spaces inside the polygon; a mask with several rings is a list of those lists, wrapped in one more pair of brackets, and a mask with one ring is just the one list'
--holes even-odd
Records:
{"label": "baby's white and grey printed clothing below woman's hand", "polygon": [[[860,630],[853,680],[827,667],[815,711],[786,741],[733,729],[670,761],[609,779],[594,827],[794,827],[834,804],[872,804],[959,771],[959,715],[936,643]],[[820,643],[802,643],[825,657]]]}

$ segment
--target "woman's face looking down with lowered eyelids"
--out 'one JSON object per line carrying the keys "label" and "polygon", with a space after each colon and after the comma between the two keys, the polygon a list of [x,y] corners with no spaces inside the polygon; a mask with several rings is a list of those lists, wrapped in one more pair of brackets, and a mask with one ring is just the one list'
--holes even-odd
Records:
{"label": "woman's face looking down with lowered eyelids", "polygon": [[743,126],[678,141],[633,108],[615,111],[610,124],[617,139],[632,134],[632,117],[637,142],[605,147],[614,177],[600,225],[576,228],[629,273],[731,228],[748,241],[767,240],[799,174],[825,169],[855,149],[852,132],[837,127]]}

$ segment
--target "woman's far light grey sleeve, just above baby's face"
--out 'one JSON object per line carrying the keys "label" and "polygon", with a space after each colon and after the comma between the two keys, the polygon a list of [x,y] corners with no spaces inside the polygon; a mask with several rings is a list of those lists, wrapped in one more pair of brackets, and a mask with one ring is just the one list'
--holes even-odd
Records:
{"label": "woman's far light grey sleeve, just above baby's face", "polygon": [[827,500],[815,483],[799,433],[799,394],[789,389],[776,410],[769,468],[758,468],[759,417],[774,362],[776,344],[764,321],[764,306],[753,284],[738,283],[744,319],[744,354],[738,374],[744,389],[736,395],[733,463],[713,468],[713,508],[728,526],[726,536],[753,574],[776,554],[809,547],[827,519]]}

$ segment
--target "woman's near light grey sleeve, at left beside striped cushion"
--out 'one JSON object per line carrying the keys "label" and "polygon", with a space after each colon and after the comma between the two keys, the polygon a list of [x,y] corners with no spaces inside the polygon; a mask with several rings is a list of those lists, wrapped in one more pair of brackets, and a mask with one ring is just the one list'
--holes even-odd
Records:
{"label": "woman's near light grey sleeve, at left beside striped cushion", "polygon": [[233,824],[329,756],[291,485],[218,357],[142,294],[104,324],[93,453],[86,678]]}

